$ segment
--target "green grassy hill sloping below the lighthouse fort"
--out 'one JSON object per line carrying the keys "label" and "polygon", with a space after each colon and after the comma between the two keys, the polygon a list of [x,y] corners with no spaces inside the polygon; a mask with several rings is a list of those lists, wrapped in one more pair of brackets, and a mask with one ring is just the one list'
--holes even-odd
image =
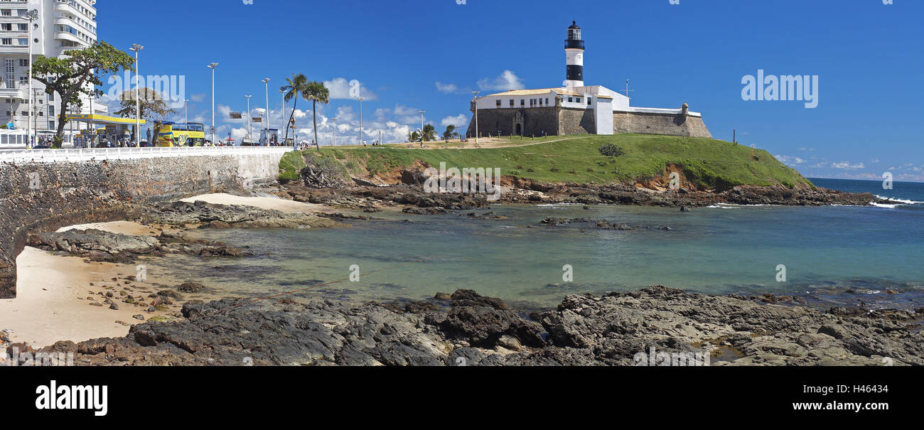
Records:
{"label": "green grassy hill sloping below the lighthouse fort", "polygon": [[[602,184],[663,177],[665,168],[674,165],[700,189],[810,185],[770,153],[728,141],[639,134],[558,139],[563,140],[483,149],[322,147],[322,154],[338,160],[354,176],[380,175],[420,163],[436,167],[445,163],[447,167],[500,167],[503,175],[541,182]],[[603,156],[599,148],[605,143],[620,146],[625,154]],[[298,178],[297,172],[304,166],[298,158],[292,154],[283,160],[280,178]]]}

